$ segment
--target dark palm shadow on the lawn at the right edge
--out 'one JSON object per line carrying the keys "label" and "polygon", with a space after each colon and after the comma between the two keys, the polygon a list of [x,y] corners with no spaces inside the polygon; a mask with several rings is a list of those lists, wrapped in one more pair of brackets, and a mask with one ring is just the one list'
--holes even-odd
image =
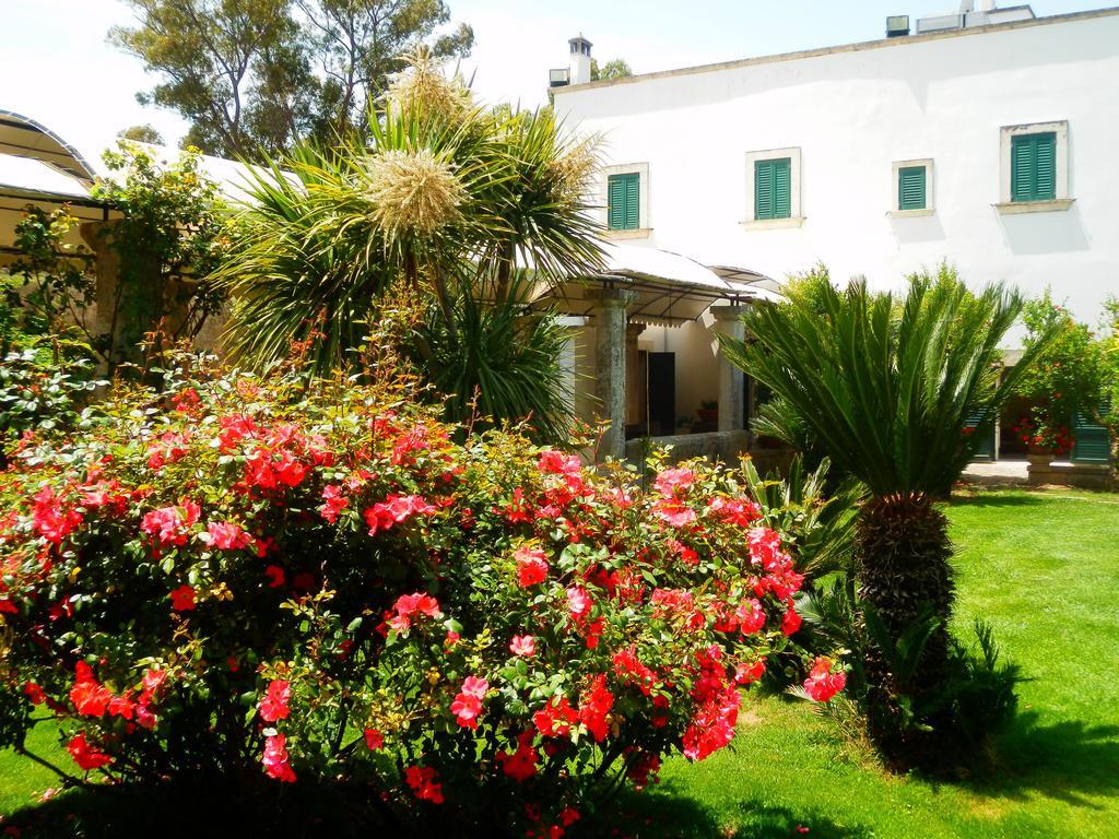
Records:
{"label": "dark palm shadow on the lawn at the right edge", "polygon": [[1085,795],[1119,793],[1119,726],[1069,719],[1038,724],[1019,714],[999,739],[998,769],[966,785],[978,795],[1024,800],[1032,795],[1100,809]]}

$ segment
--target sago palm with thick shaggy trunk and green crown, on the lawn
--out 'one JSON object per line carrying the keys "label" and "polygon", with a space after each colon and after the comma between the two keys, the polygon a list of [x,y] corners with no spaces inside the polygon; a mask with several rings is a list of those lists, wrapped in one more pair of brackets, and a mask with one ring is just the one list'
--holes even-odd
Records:
{"label": "sago palm with thick shaggy trunk and green crown, on the lawn", "polygon": [[[1022,305],[1000,285],[972,295],[951,276],[913,276],[901,300],[872,294],[859,281],[845,292],[827,284],[812,305],[753,309],[744,342],[720,336],[731,360],[772,388],[833,462],[866,484],[869,500],[857,519],[859,598],[869,629],[888,635],[867,644],[863,662],[867,723],[895,767],[933,766],[952,736],[943,713],[912,720],[913,708],[930,707],[949,675],[952,547],[937,501],[1033,358],[1032,349],[1005,373],[998,364],[999,341]],[[969,430],[975,416],[981,418]],[[894,648],[913,644],[923,644],[910,656],[915,666],[893,672]]]}

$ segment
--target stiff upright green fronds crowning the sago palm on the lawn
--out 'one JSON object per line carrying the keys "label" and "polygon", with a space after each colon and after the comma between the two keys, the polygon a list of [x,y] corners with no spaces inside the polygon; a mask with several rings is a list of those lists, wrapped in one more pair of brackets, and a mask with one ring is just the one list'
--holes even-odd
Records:
{"label": "stiff upright green fronds crowning the sago palm on the lawn", "polygon": [[723,350],[874,494],[946,492],[1036,352],[1005,374],[997,364],[1022,298],[1002,285],[972,298],[959,281],[914,276],[904,300],[859,281],[817,302],[822,317],[796,302],[753,309],[751,340],[720,336]]}

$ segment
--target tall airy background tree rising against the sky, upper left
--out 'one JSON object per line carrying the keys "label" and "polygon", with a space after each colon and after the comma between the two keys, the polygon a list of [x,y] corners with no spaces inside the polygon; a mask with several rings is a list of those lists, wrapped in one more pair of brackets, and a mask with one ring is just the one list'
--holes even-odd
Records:
{"label": "tall airy background tree rising against the sky, upper left", "polygon": [[138,98],[186,117],[185,145],[224,157],[361,129],[403,53],[427,44],[464,56],[473,45],[464,25],[436,35],[450,20],[442,0],[128,2],[138,23],[110,39],[160,76]]}

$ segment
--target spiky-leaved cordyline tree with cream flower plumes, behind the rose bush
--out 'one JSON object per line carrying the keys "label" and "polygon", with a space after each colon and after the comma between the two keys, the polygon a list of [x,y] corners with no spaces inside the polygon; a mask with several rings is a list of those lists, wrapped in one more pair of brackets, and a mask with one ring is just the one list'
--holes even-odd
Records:
{"label": "spiky-leaved cordyline tree with cream flower plumes, behind the rose bush", "polygon": [[[300,346],[320,375],[360,369],[358,350],[393,311],[393,339],[442,395],[449,418],[479,409],[570,422],[554,317],[540,289],[598,270],[586,209],[595,157],[551,110],[474,105],[430,54],[394,84],[369,142],[304,145],[257,172],[215,279],[235,298],[233,355],[257,367]],[[524,272],[532,271],[532,282]],[[543,317],[542,317],[543,315]]]}

